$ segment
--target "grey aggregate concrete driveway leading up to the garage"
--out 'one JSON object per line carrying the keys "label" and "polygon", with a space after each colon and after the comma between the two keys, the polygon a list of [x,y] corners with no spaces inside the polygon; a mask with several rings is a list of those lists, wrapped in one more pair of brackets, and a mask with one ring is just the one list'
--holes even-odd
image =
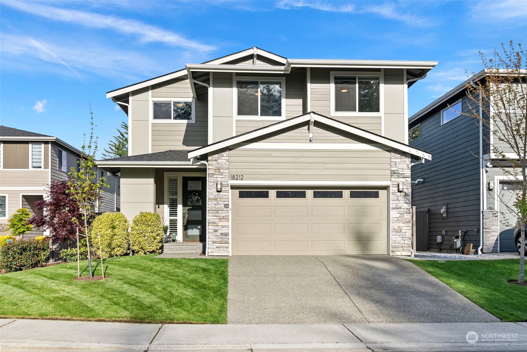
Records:
{"label": "grey aggregate concrete driveway leading up to the garage", "polygon": [[391,256],[231,257],[227,320],[229,324],[500,321],[412,263]]}

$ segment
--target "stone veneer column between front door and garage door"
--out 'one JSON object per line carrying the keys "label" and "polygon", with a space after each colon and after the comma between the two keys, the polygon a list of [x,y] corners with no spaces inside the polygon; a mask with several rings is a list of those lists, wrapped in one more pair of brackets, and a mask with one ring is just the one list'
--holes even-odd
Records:
{"label": "stone veneer column between front door and garage door", "polygon": [[[207,250],[209,256],[229,255],[229,150],[209,154],[207,187]],[[217,183],[221,182],[221,192]]]}

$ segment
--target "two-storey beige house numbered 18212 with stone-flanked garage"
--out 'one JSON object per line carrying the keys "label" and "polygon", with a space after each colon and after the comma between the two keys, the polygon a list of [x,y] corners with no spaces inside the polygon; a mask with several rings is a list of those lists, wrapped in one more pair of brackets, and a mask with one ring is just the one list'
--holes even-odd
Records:
{"label": "two-storey beige house numbered 18212 with stone-flanked garage", "polygon": [[407,87],[436,62],[257,47],[106,94],[129,117],[121,211],[207,255],[411,254]]}

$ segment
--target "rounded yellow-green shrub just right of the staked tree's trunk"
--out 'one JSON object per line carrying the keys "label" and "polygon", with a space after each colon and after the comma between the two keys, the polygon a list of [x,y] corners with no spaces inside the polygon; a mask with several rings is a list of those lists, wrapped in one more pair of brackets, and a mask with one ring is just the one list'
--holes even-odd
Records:
{"label": "rounded yellow-green shrub just right of the staked tree's trunk", "polygon": [[103,258],[124,256],[130,244],[128,226],[128,220],[122,213],[103,213],[96,217],[91,226],[91,246],[97,256],[101,255],[97,231],[101,234]]}

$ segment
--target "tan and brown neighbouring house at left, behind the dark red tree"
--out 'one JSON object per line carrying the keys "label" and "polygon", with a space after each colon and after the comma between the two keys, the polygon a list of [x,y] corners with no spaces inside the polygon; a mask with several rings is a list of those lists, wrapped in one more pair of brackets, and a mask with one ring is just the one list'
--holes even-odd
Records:
{"label": "tan and brown neighbouring house at left, behind the dark red tree", "polygon": [[[34,202],[41,200],[54,180],[67,180],[71,168],[77,168],[81,151],[64,141],[45,134],[0,126],[0,229],[19,208],[35,214]],[[100,212],[119,211],[119,178],[102,169],[109,188],[104,187]],[[42,236],[32,230],[24,238]]]}

